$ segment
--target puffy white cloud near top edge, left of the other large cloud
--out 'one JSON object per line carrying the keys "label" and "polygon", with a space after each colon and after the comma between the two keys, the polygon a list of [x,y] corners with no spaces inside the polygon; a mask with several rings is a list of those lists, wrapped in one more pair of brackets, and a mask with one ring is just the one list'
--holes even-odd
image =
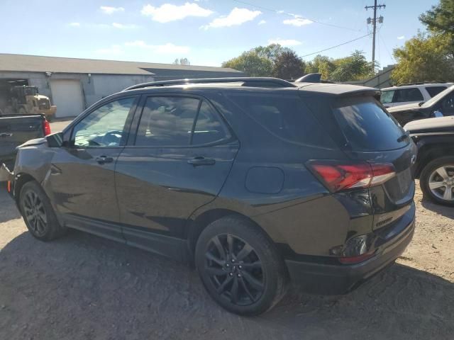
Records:
{"label": "puffy white cloud near top edge, left of the other large cloud", "polygon": [[160,7],[154,7],[150,4],[143,6],[142,14],[144,16],[151,16],[154,21],[159,23],[168,23],[170,21],[177,21],[188,16],[211,16],[213,11],[202,8],[198,4],[186,4],[182,6],[163,4]]}

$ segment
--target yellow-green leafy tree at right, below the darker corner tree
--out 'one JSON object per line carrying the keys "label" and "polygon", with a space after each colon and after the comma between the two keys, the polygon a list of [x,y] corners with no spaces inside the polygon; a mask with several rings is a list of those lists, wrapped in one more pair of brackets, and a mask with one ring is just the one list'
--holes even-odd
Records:
{"label": "yellow-green leafy tree at right, below the darker corner tree", "polygon": [[397,66],[392,72],[396,84],[445,80],[453,81],[453,55],[449,35],[418,33],[394,50]]}

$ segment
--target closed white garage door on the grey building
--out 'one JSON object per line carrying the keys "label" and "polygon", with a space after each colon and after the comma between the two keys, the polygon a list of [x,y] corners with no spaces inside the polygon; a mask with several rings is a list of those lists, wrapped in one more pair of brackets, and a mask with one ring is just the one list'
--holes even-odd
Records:
{"label": "closed white garage door on the grey building", "polygon": [[74,117],[84,111],[80,81],[51,80],[50,91],[52,91],[52,103],[57,106],[57,117]]}

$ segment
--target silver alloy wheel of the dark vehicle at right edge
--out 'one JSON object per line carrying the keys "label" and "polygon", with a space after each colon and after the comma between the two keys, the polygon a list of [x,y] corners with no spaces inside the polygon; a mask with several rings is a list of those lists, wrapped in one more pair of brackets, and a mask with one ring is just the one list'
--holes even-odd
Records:
{"label": "silver alloy wheel of the dark vehicle at right edge", "polygon": [[433,159],[421,171],[419,185],[425,198],[454,206],[454,157]]}

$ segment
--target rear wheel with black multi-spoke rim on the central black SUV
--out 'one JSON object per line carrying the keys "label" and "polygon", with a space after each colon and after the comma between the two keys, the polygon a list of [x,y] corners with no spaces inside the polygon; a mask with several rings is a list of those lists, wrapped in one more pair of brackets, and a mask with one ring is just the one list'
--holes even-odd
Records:
{"label": "rear wheel with black multi-spoke rim on the central black SUV", "polygon": [[287,290],[287,270],[275,244],[243,217],[222,217],[206,227],[195,263],[209,295],[235,314],[262,314]]}

